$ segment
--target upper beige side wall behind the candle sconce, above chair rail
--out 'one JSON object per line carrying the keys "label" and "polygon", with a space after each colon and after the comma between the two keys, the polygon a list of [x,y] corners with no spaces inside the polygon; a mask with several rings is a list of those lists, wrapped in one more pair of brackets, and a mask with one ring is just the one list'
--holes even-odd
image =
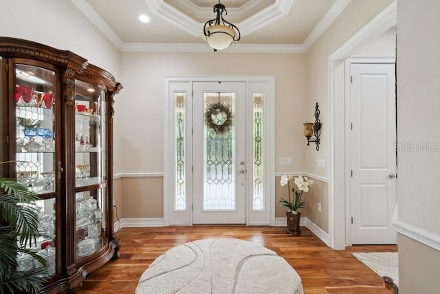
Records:
{"label": "upper beige side wall behind the candle sconce, above chair rail", "polygon": [[[329,176],[329,56],[350,39],[392,0],[352,0],[347,8],[333,21],[318,41],[307,51],[307,120],[314,120],[314,107],[320,105],[322,122],[320,151],[307,148],[305,171],[309,174]],[[364,44],[366,45],[366,44]],[[363,47],[363,46],[361,46]],[[336,130],[338,132],[338,130]],[[318,159],[326,161],[326,167],[318,167]]]}

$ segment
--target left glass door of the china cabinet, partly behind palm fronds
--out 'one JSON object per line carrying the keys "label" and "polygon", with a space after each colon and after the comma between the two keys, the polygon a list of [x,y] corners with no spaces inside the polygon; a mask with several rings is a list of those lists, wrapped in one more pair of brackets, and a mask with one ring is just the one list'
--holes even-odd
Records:
{"label": "left glass door of the china cabinet, partly behind palm fronds", "polygon": [[[15,134],[17,181],[39,194],[40,211],[37,240],[28,249],[37,251],[49,264],[49,275],[56,273],[56,147],[55,72],[47,68],[16,64]],[[30,255],[20,253],[18,271],[41,266]]]}

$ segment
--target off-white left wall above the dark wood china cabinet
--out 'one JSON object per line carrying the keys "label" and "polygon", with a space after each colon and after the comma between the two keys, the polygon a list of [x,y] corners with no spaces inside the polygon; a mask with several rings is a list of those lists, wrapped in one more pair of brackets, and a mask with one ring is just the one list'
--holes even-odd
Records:
{"label": "off-white left wall above the dark wood china cabinet", "polygon": [[[14,0],[1,2],[0,36],[27,39],[83,56],[120,81],[120,52],[71,1]],[[124,90],[122,90],[123,92]],[[119,95],[115,100],[119,101]],[[118,107],[118,103],[115,104]],[[120,137],[115,114],[115,172],[120,170]]]}

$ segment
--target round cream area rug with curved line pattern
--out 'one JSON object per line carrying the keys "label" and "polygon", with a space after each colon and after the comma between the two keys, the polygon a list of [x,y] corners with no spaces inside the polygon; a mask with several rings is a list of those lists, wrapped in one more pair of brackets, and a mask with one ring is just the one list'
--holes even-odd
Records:
{"label": "round cream area rug with curved line pattern", "polygon": [[136,294],[302,294],[298,273],[276,252],[233,238],[188,242],[160,255]]}

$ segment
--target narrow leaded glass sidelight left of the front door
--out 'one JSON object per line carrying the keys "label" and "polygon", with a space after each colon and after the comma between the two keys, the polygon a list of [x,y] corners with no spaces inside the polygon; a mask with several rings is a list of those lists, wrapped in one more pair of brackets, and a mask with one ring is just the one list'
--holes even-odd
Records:
{"label": "narrow leaded glass sidelight left of the front door", "polygon": [[175,210],[186,209],[185,178],[185,93],[175,93],[175,140],[176,140],[176,191]]}

